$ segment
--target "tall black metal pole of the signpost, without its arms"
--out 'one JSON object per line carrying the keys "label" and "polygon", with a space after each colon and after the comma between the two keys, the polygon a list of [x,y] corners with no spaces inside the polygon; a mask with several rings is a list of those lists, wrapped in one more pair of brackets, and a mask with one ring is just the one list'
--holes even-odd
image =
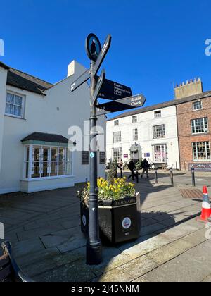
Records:
{"label": "tall black metal pole of the signpost, without its arms", "polygon": [[102,261],[102,243],[99,235],[98,187],[97,187],[97,149],[96,149],[96,107],[94,106],[94,90],[96,79],[94,61],[90,65],[90,194],[89,194],[89,239],[87,241],[87,264],[98,265]]}

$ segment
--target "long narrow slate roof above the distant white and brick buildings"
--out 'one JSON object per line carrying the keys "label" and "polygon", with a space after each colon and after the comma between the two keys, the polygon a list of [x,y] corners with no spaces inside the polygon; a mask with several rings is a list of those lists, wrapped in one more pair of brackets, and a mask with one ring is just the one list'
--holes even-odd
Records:
{"label": "long narrow slate roof above the distant white and brick buildings", "polygon": [[145,112],[153,111],[153,110],[157,110],[157,109],[162,109],[162,108],[166,108],[166,107],[169,107],[169,106],[177,106],[179,104],[187,103],[188,101],[196,101],[198,99],[205,99],[206,97],[211,97],[211,91],[203,92],[201,94],[195,94],[195,95],[193,95],[191,97],[185,97],[185,98],[182,98],[182,99],[174,99],[172,101],[166,101],[165,103],[156,104],[156,105],[153,105],[153,106],[148,106],[148,107],[145,107],[145,108],[142,108],[142,109],[136,109],[136,110],[133,110],[133,111],[128,111],[128,112],[122,113],[122,114],[120,114],[118,116],[115,116],[113,118],[109,118],[108,121],[113,121],[113,120],[116,120],[116,119],[119,119],[119,118],[124,118],[124,117],[127,117],[127,116],[134,116],[134,115],[137,115],[137,114],[141,114],[141,113],[145,113]]}

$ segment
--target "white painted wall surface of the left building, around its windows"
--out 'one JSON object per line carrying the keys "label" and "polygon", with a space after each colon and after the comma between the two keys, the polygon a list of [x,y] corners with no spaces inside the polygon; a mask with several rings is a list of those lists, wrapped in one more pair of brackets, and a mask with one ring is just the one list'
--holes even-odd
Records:
{"label": "white painted wall surface of the left building, around its windows", "polygon": [[[20,190],[20,180],[23,179],[24,155],[23,144],[20,141],[24,137],[30,135],[32,132],[47,132],[69,138],[68,128],[71,125],[78,125],[83,128],[84,120],[89,121],[89,85],[85,83],[75,92],[70,92],[70,85],[73,80],[86,69],[77,62],[75,62],[74,68],[75,75],[58,82],[58,84],[46,91],[46,96],[7,86],[7,90],[25,96],[25,118],[19,119],[3,116],[4,132],[2,140],[0,194]],[[3,80],[0,76],[0,85],[1,83],[5,83],[5,79]],[[4,91],[1,91],[2,94],[0,93],[4,97],[4,102],[1,101],[1,110],[5,110],[6,86],[4,86],[3,89]],[[98,124],[102,125],[106,130],[105,116],[99,118]],[[80,143],[77,143],[77,145],[79,144]],[[105,166],[99,165],[98,167],[99,175],[104,176]],[[82,166],[81,152],[74,152],[73,175],[74,182],[71,180],[71,182],[68,183],[70,186],[72,183],[84,182],[86,178],[89,179],[89,166]],[[44,182],[44,180],[41,181],[41,183]],[[55,183],[59,183],[59,181],[55,180]],[[60,180],[60,183],[61,187],[65,187],[64,180]],[[34,187],[34,184],[36,183],[33,183],[31,188]],[[37,184],[40,188],[44,189],[44,185],[40,183]],[[52,182],[46,182],[46,189],[49,189],[49,184],[52,184]],[[54,185],[52,184],[52,186]],[[23,187],[25,187],[25,185],[23,185]],[[52,187],[52,189],[54,189],[54,187]],[[34,188],[34,191],[36,191],[36,188]]]}

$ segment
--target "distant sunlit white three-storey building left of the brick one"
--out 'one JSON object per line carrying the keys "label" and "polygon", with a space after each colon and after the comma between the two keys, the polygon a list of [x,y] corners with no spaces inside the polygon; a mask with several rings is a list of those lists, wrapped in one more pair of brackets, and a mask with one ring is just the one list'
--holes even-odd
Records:
{"label": "distant sunlit white three-storey building left of the brick one", "polygon": [[175,101],[129,111],[107,121],[107,161],[150,159],[179,169]]}

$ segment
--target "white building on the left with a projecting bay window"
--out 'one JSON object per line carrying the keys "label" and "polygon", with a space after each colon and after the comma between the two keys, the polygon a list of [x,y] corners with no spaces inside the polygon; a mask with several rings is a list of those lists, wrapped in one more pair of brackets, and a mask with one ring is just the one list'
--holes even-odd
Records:
{"label": "white building on the left with a projecting bay window", "polygon": [[[68,129],[78,126],[83,132],[84,121],[89,123],[89,85],[70,92],[85,70],[73,61],[68,77],[52,85],[0,63],[0,194],[71,187],[89,179],[89,147],[75,152],[82,144],[77,140],[69,141],[68,149]],[[105,116],[98,125],[106,130]],[[103,151],[98,154],[98,175],[104,176]]]}

